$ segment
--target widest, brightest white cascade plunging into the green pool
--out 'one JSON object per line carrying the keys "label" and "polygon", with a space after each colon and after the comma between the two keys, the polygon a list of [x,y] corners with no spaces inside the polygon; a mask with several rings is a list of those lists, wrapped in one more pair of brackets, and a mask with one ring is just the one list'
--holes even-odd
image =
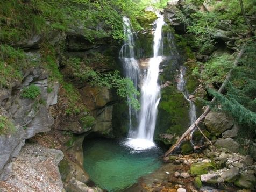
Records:
{"label": "widest, brightest white cascade plunging into the green pool", "polygon": [[[158,84],[159,64],[162,61],[162,26],[165,24],[163,16],[158,15],[154,31],[153,58],[148,62],[141,87],[141,110],[139,126],[133,132],[126,145],[144,150],[155,146],[153,142],[155,122],[157,120],[157,106],[160,101],[160,86]],[[130,136],[130,135],[129,135]]]}

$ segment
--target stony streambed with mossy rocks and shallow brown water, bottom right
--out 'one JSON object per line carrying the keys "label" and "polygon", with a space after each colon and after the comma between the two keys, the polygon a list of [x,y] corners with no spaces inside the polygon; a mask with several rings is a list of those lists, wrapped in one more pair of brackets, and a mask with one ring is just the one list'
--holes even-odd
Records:
{"label": "stony streambed with mossy rocks and shallow brown water, bottom right", "polygon": [[250,155],[206,149],[170,156],[161,168],[125,191],[255,191],[255,173]]}

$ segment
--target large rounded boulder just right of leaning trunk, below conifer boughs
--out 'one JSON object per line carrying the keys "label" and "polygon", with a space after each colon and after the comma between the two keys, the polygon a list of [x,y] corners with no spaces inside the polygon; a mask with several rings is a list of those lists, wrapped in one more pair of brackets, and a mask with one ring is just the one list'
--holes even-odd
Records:
{"label": "large rounded boulder just right of leaning trunk, below conifer boughs", "polygon": [[233,120],[223,112],[210,111],[205,117],[204,123],[210,133],[219,136],[232,127]]}

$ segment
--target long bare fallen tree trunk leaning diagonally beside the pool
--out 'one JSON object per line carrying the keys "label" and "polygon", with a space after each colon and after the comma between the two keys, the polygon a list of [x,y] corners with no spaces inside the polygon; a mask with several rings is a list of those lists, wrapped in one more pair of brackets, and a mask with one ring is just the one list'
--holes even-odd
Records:
{"label": "long bare fallen tree trunk leaning diagonally beside the pool", "polygon": [[[225,89],[225,87],[226,87],[227,82],[229,82],[229,80],[230,80],[231,73],[232,73],[234,67],[236,67],[236,66],[238,65],[239,59],[240,59],[241,56],[244,54],[244,47],[245,47],[245,45],[243,45],[243,46],[241,47],[240,51],[238,52],[237,57],[236,57],[236,60],[234,60],[234,63],[233,63],[233,68],[230,69],[229,73],[227,73],[226,79],[225,79],[225,81],[223,82],[222,86],[219,88],[218,93],[223,93],[223,91],[224,91],[224,89]],[[214,102],[214,101],[215,101],[215,97],[211,100],[211,102]],[[163,158],[164,160],[167,160],[167,156],[168,156],[170,153],[172,153],[172,152],[176,149],[176,147],[178,147],[178,146],[180,145],[180,143],[182,142],[182,140],[183,140],[184,138],[186,138],[187,135],[190,134],[190,133],[197,127],[196,125],[197,125],[198,123],[200,123],[200,122],[205,118],[205,116],[210,112],[210,110],[211,110],[211,109],[209,108],[209,106],[207,106],[207,108],[206,108],[205,111],[202,113],[202,115],[201,115],[200,117],[198,117],[198,119],[193,123],[193,125],[191,125],[191,126],[187,129],[187,131],[182,134],[182,136],[180,137],[180,139],[178,139],[178,140],[176,141],[176,143],[175,143],[174,145],[172,145],[172,147],[170,147],[169,150],[165,153],[165,156],[164,156],[164,158]]]}

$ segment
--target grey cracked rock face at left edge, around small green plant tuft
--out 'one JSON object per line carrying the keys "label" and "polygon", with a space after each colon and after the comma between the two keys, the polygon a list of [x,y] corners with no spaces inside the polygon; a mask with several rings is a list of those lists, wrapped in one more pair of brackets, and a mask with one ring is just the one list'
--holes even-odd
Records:
{"label": "grey cracked rock face at left edge, around small green plant tuft", "polygon": [[[17,82],[10,89],[0,90],[0,115],[8,117],[16,129],[13,133],[0,136],[0,179],[6,179],[11,172],[12,158],[17,157],[25,139],[36,133],[49,131],[54,119],[47,112],[47,108],[56,103],[58,84],[52,93],[47,93],[48,75],[40,68],[33,68],[25,72],[23,80]],[[20,97],[24,88],[37,86],[40,94],[35,99]],[[2,158],[3,157],[3,158]]]}

